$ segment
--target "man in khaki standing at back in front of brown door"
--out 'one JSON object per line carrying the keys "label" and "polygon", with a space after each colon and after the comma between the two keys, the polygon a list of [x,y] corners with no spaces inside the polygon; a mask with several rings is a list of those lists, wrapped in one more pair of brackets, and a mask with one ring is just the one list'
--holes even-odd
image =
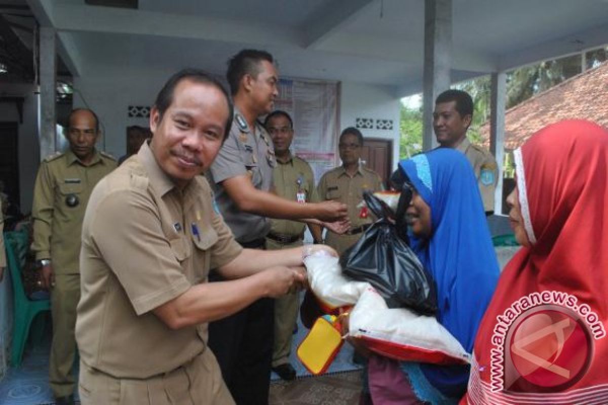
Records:
{"label": "man in khaki standing at back in front of brown door", "polygon": [[336,200],[348,206],[350,230],[342,235],[328,230],[325,237],[325,243],[340,255],[354,245],[371,225],[372,219],[367,208],[359,206],[363,202],[363,192],[382,190],[380,176],[359,164],[362,146],[361,131],[353,127],[344,129],[338,143],[342,166],[323,174],[317,186],[320,200]]}

